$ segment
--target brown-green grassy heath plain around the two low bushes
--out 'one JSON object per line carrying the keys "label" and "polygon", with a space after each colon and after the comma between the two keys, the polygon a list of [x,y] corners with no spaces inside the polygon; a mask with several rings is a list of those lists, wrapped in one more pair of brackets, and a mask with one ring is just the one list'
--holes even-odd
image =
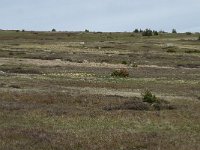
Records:
{"label": "brown-green grassy heath plain around the two low bushes", "polygon": [[0,149],[200,149],[198,37],[0,31]]}

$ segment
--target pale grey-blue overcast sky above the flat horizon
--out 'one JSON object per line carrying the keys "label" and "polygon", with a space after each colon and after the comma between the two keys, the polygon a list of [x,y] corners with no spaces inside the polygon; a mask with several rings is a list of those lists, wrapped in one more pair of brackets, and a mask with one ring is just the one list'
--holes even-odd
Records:
{"label": "pale grey-blue overcast sky above the flat horizon", "polygon": [[0,0],[0,29],[200,32],[200,0]]}

